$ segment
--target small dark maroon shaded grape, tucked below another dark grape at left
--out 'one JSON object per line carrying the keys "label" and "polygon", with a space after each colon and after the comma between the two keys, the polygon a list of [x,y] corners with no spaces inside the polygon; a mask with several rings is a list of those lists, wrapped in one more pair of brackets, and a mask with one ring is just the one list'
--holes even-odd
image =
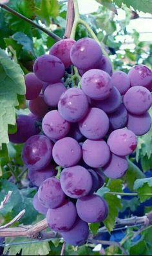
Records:
{"label": "small dark maroon shaded grape, tucked below another dark grape at left", "polygon": [[30,100],[28,107],[37,117],[44,117],[49,110],[48,105],[44,102],[43,95],[39,95],[36,99]]}

